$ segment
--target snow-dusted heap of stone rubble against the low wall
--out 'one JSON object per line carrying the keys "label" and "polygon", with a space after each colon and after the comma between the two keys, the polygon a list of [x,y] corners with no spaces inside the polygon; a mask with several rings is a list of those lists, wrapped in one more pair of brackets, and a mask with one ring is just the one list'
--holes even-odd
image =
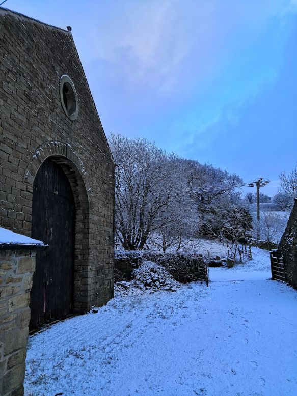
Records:
{"label": "snow-dusted heap of stone rubble against the low wall", "polygon": [[162,266],[152,261],[144,261],[139,268],[133,270],[133,279],[117,282],[115,290],[139,289],[142,291],[167,290],[174,292],[179,282],[173,279],[170,273]]}

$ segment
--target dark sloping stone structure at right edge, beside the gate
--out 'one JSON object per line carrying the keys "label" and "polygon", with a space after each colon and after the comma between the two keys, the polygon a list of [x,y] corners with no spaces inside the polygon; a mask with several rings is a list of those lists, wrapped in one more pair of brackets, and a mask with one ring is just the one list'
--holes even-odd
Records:
{"label": "dark sloping stone structure at right edge, beside the gate", "polygon": [[278,246],[278,253],[283,257],[286,281],[297,289],[297,199]]}

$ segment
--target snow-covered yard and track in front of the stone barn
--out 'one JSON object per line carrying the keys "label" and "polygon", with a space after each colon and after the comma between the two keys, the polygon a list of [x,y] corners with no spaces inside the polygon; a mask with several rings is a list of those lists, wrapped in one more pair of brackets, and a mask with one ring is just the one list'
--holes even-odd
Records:
{"label": "snow-covered yard and track in front of the stone barn", "polygon": [[297,394],[297,292],[252,252],[209,288],[118,294],[31,336],[25,395]]}

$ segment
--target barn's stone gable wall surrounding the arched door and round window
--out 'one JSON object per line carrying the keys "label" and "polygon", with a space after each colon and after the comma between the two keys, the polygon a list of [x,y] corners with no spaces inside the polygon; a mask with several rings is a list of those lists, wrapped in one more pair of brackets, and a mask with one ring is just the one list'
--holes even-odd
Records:
{"label": "barn's stone gable wall surrounding the arched door and round window", "polygon": [[[74,310],[84,312],[114,293],[115,164],[71,33],[0,8],[0,43],[0,226],[31,236],[34,177],[56,159],[76,202]],[[74,121],[61,105],[64,74]]]}

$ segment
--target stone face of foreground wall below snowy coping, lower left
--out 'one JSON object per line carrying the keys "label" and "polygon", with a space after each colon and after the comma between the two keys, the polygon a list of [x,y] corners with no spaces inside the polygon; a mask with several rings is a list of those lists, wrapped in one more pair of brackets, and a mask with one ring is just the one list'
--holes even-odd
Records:
{"label": "stone face of foreground wall below snowy coping, lower left", "polygon": [[0,250],[0,394],[22,396],[35,271],[32,250]]}

